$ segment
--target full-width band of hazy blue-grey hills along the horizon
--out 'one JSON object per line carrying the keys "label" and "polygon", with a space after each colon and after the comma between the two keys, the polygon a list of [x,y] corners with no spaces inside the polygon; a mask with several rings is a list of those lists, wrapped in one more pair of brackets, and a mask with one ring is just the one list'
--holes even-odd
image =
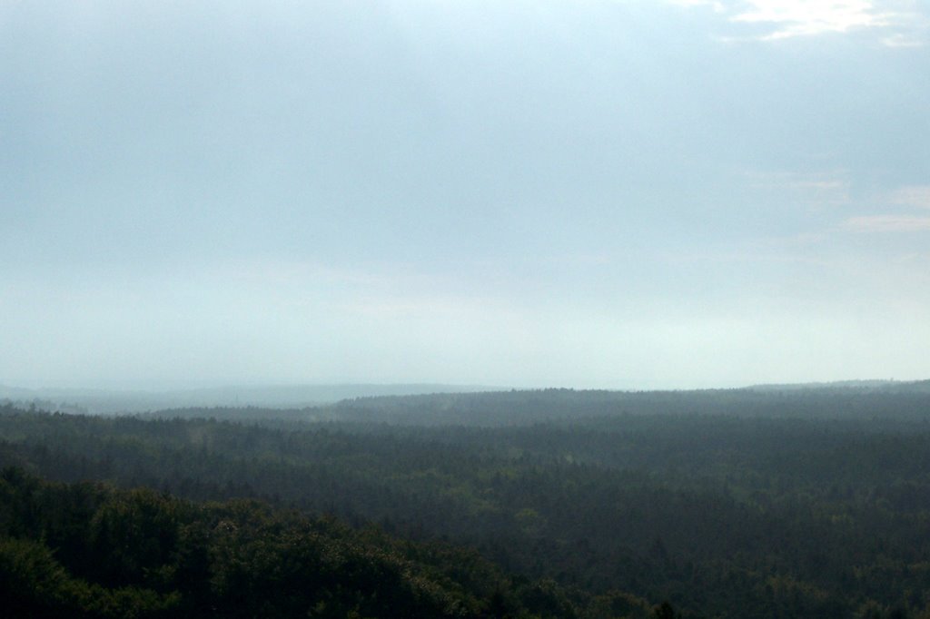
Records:
{"label": "full-width band of hazy blue-grey hills along the horizon", "polygon": [[[830,383],[753,385],[742,389],[614,391],[575,389],[504,390],[476,385],[343,384],[281,385],[119,391],[17,389],[0,386],[0,402],[47,411],[99,415],[160,412],[233,418],[390,420],[393,423],[525,423],[591,415],[673,413],[688,415],[849,415],[877,407],[899,415],[930,394],[930,380],[847,380]],[[882,398],[894,395],[897,399]],[[788,409],[780,398],[792,398]],[[865,398],[865,399],[863,399]],[[872,398],[878,398],[871,402]],[[900,398],[910,398],[905,404]],[[818,400],[817,403],[814,401]],[[821,402],[822,401],[822,402]],[[923,404],[922,404],[923,405]],[[307,409],[315,409],[312,414]],[[180,414],[187,409],[186,414]],[[206,409],[217,409],[207,411]],[[222,410],[219,410],[222,409]],[[860,410],[861,409],[861,410]],[[887,409],[887,410],[886,410]],[[273,415],[269,415],[273,413]],[[883,415],[885,414],[883,413]],[[189,415],[188,415],[189,414]]]}

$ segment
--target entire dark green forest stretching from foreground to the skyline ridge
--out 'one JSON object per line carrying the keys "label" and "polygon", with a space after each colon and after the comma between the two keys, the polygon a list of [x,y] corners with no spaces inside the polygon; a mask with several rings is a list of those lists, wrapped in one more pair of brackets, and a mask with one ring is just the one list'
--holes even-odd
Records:
{"label": "entire dark green forest stretching from foreground to the skyline ridge", "polygon": [[930,389],[0,406],[0,589],[72,616],[930,617]]}

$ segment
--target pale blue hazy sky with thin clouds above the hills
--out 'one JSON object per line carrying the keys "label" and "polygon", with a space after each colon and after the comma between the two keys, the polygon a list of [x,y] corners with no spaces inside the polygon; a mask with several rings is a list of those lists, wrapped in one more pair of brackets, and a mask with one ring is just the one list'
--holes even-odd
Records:
{"label": "pale blue hazy sky with thin clouds above the hills", "polygon": [[0,384],[930,377],[924,0],[0,0]]}

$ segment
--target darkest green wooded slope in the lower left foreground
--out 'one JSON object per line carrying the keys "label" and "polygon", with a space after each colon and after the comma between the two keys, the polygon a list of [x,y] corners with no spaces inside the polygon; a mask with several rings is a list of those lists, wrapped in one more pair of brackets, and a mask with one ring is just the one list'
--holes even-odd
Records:
{"label": "darkest green wooded slope in the lower left foreground", "polygon": [[254,500],[0,473],[5,616],[538,616],[571,607],[473,551]]}

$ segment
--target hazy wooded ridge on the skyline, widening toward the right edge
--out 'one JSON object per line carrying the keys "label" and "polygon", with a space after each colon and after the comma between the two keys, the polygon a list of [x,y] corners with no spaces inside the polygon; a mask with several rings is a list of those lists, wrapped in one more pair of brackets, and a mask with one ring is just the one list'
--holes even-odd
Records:
{"label": "hazy wooded ridge on the skyline, widening toward the right edge", "polygon": [[724,415],[923,421],[930,382],[866,383],[861,387],[594,391],[540,389],[361,397],[300,408],[184,407],[154,417],[236,420],[345,421],[414,426],[512,426],[615,415]]}

